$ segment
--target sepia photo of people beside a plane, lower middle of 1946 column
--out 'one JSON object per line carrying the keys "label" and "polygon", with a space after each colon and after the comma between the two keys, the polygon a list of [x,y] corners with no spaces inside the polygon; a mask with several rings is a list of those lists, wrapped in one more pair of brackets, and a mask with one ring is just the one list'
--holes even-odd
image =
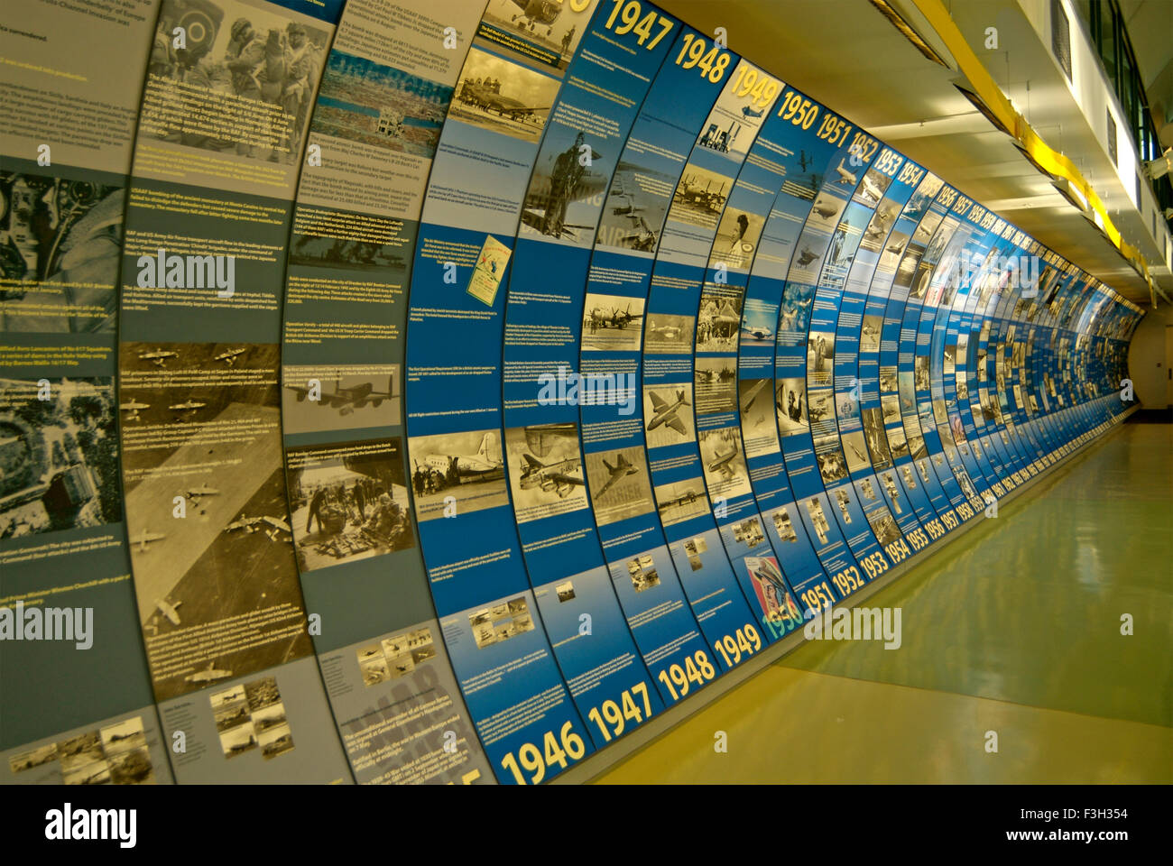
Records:
{"label": "sepia photo of people beside a plane, lower middle of 1946 column", "polygon": [[408,453],[419,521],[443,517],[446,509],[468,514],[509,502],[496,429],[413,437]]}

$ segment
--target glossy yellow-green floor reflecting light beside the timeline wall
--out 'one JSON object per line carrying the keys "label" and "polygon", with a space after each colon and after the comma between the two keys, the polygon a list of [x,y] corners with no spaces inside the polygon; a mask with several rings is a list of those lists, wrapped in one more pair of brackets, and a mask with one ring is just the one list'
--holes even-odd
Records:
{"label": "glossy yellow-green floor reflecting light beside the timeline wall", "polygon": [[1052,472],[865,602],[900,649],[805,643],[599,782],[1173,783],[1173,426]]}

